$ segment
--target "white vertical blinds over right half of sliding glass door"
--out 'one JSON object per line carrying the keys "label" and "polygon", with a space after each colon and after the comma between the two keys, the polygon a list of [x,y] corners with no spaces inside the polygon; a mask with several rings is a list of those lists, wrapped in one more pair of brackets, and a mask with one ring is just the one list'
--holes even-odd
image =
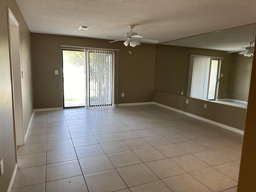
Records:
{"label": "white vertical blinds over right half of sliding glass door", "polygon": [[116,104],[118,51],[98,48],[86,52],[86,107]]}

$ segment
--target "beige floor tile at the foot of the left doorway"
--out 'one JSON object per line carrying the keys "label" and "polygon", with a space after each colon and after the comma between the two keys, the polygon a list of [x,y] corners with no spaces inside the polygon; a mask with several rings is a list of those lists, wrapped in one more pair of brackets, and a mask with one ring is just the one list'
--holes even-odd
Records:
{"label": "beige floor tile at the foot of the left doorway", "polygon": [[18,155],[40,153],[46,151],[46,142],[25,144],[18,147]]}

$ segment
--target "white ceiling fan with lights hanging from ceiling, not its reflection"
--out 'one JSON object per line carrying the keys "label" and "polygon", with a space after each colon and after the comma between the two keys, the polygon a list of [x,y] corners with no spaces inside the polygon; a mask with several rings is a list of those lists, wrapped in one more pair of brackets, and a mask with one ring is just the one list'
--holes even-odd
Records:
{"label": "white ceiling fan with lights hanging from ceiling, not its reflection", "polygon": [[[152,42],[152,43],[158,43],[158,40],[153,40],[153,39],[145,39],[142,36],[138,35],[136,32],[133,32],[132,29],[134,28],[134,25],[129,25],[131,31],[130,32],[126,32],[125,33],[125,37],[115,37],[115,38],[122,38],[119,40],[115,40],[115,41],[110,41],[110,43],[112,42],[116,42],[116,41],[123,41],[124,45],[127,47],[129,44],[131,47],[136,47],[137,45],[140,45],[139,41],[145,41],[145,42]],[[111,37],[111,36],[108,36]]]}

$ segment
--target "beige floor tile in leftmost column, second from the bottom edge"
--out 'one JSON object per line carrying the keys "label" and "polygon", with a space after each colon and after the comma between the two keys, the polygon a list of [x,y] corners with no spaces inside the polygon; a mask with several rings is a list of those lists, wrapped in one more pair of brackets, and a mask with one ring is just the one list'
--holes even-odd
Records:
{"label": "beige floor tile in leftmost column, second from the bottom edge", "polygon": [[18,169],[12,189],[41,184],[45,182],[45,165]]}

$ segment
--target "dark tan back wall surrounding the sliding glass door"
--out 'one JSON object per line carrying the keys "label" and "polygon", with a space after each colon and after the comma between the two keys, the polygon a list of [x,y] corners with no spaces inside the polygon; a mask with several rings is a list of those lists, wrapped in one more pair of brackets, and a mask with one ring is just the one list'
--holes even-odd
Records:
{"label": "dark tan back wall surrounding the sliding glass door", "polygon": [[[62,107],[62,64],[59,45],[119,49],[118,103],[153,102],[156,45],[132,48],[109,40],[31,34],[35,108]],[[131,54],[129,54],[131,51]],[[59,70],[59,75],[54,75]],[[124,97],[121,97],[124,93]]]}

